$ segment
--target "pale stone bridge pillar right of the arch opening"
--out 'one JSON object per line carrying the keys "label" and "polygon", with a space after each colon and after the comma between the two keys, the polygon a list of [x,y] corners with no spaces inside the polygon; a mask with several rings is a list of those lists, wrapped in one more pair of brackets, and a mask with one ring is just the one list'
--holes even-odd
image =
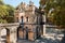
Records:
{"label": "pale stone bridge pillar right of the arch opening", "polygon": [[16,43],[16,27],[10,29],[10,43]]}

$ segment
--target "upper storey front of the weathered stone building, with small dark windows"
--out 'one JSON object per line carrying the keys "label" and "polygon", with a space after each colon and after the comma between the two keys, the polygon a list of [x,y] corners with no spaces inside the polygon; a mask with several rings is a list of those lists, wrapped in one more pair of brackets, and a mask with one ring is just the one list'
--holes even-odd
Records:
{"label": "upper storey front of the weathered stone building, with small dark windows", "polygon": [[36,6],[34,5],[34,3],[30,1],[29,4],[26,4],[24,2],[22,2],[17,8],[16,11],[14,13],[14,18],[15,22],[21,23],[22,22],[22,16],[23,16],[23,22],[24,23],[34,23],[36,19]]}

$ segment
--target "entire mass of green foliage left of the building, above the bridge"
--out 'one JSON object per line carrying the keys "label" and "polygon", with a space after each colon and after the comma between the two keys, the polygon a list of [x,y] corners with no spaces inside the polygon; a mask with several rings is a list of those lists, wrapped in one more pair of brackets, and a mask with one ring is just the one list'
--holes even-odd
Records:
{"label": "entire mass of green foliage left of the building, above the bridge", "polygon": [[13,23],[14,8],[2,3],[2,0],[0,0],[0,23]]}

